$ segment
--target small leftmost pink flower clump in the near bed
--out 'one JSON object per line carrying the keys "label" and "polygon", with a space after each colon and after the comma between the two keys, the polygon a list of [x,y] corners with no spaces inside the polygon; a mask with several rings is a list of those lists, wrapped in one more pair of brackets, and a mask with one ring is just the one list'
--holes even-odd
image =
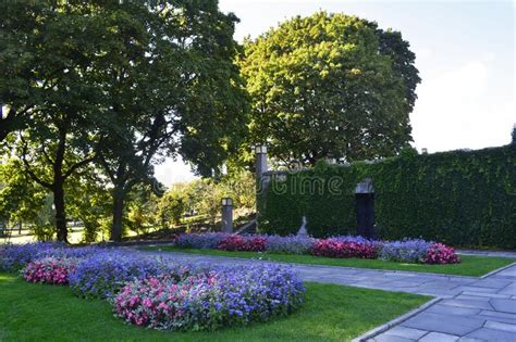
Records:
{"label": "small leftmost pink flower clump in the near bed", "polygon": [[47,256],[29,262],[23,269],[23,278],[28,282],[66,284],[69,275],[77,266],[76,258]]}

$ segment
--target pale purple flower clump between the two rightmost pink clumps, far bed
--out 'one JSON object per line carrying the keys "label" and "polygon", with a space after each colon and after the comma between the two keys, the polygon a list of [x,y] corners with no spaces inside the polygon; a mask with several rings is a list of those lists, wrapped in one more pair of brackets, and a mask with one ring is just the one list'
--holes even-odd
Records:
{"label": "pale purple flower clump between the two rightmost pink clumps, far bed", "polygon": [[380,248],[379,257],[392,262],[421,263],[432,243],[422,239],[384,242]]}

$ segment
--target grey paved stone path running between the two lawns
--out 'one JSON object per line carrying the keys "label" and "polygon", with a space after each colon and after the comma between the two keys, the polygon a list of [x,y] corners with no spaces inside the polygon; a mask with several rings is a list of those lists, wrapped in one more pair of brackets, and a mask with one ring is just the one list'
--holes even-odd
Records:
{"label": "grey paved stone path running between the two lawns", "polygon": [[[139,253],[212,265],[260,262],[175,252]],[[441,299],[369,341],[516,342],[516,264],[486,278],[299,264],[292,267],[306,281],[410,292]]]}

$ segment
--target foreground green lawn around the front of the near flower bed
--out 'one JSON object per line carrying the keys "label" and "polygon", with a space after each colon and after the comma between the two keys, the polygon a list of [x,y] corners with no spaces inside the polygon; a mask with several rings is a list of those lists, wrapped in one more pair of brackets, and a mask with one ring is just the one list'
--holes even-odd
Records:
{"label": "foreground green lawn around the front of the near flower bed", "polygon": [[0,274],[0,341],[348,341],[429,300],[409,293],[307,283],[303,308],[287,317],[214,332],[125,325],[100,300],[70,288]]}

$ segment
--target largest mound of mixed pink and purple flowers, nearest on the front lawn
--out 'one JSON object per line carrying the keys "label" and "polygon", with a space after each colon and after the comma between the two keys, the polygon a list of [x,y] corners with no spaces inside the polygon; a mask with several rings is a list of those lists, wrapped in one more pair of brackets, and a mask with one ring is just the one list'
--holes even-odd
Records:
{"label": "largest mound of mixed pink and purple flowers, nearest on the front lawn", "polygon": [[119,317],[137,326],[214,330],[290,314],[304,293],[291,270],[256,265],[219,267],[180,281],[168,275],[136,280],[111,303]]}

